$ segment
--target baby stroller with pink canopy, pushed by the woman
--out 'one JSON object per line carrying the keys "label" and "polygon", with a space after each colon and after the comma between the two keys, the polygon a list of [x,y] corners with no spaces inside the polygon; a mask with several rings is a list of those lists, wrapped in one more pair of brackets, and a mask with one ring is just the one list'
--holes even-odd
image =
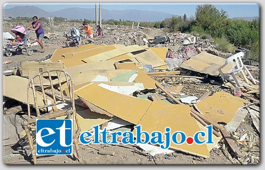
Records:
{"label": "baby stroller with pink canopy, pushed by the woman", "polygon": [[[31,43],[28,43],[31,30],[27,30],[24,26],[18,25],[11,29],[11,31],[15,34],[19,34],[22,40],[15,44],[12,42],[8,43],[7,46],[4,47],[6,55],[12,56],[14,53],[21,53],[23,49],[26,49],[28,55],[32,55],[33,49],[30,48],[32,45]],[[34,45],[36,45],[36,43]]]}

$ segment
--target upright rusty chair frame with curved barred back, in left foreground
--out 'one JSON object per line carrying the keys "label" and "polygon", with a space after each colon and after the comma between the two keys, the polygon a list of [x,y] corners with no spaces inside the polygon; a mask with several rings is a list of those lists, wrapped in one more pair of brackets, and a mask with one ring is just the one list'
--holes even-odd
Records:
{"label": "upright rusty chair frame with curved barred back, in left foreground", "polygon": [[[48,77],[47,79],[44,78]],[[62,84],[67,83],[67,89],[70,97],[67,97],[63,93]],[[56,92],[55,89],[58,88],[60,93]],[[30,106],[30,90],[32,89],[34,96],[34,107],[37,112],[36,118],[31,118],[31,106]],[[44,105],[38,104],[36,93],[40,92],[43,96]],[[73,81],[69,73],[63,70],[48,70],[41,73],[38,73],[33,78],[30,79],[28,84],[27,91],[27,99],[28,99],[28,114],[29,118],[24,122],[24,128],[27,133],[31,153],[33,156],[34,164],[37,164],[37,156],[36,156],[36,148],[33,143],[33,137],[36,137],[36,134],[33,130],[36,130],[36,121],[37,119],[52,119],[59,116],[66,116],[66,118],[73,119],[73,143],[76,150],[75,157],[78,158],[79,162],[82,162],[80,149],[78,146],[77,137],[81,132],[79,121],[77,118],[76,108],[75,108],[75,100],[74,100],[74,86]],[[48,98],[52,103],[49,103]],[[39,99],[40,100],[40,99]],[[56,107],[58,104],[67,103],[69,107],[67,109],[58,110]],[[49,107],[49,108],[48,108]],[[52,111],[49,109],[53,108]],[[41,114],[40,110],[45,110],[45,113]],[[74,153],[74,151],[73,151]]]}

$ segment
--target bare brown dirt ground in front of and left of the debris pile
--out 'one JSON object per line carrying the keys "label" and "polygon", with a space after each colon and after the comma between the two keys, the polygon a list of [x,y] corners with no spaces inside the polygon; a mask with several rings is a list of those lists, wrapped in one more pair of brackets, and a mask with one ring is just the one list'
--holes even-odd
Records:
{"label": "bare brown dirt ground in front of and left of the debris pile", "polygon": [[[151,31],[150,36],[161,34],[161,31]],[[46,44],[44,43],[46,46]],[[27,52],[22,54],[13,55],[11,57],[5,56],[3,53],[3,62],[11,60],[11,63],[3,63],[3,69],[8,70],[14,67],[18,67],[23,61],[38,60],[48,55],[52,55],[58,47],[52,47],[51,44],[45,47],[45,52],[41,53],[40,46],[34,48],[33,55],[27,55]],[[252,125],[252,120],[249,115],[244,118],[244,121],[240,123],[238,130],[244,129],[245,131],[253,131],[259,141],[259,134],[255,127]],[[220,147],[214,148],[210,151],[209,158],[201,158],[190,154],[185,154],[180,151],[175,151],[167,156],[163,154],[151,156],[150,154],[144,153],[139,147],[132,145],[79,145],[81,148],[81,155],[83,157],[82,164],[234,164],[225,155],[223,149],[225,145],[220,141]],[[259,149],[259,142],[253,144],[255,149]],[[101,155],[98,153],[99,150],[114,151],[113,155]],[[228,151],[232,151],[228,148]],[[32,157],[30,155],[30,147],[28,143],[17,143],[15,145],[8,145],[3,147],[3,161],[5,164],[33,164]],[[52,156],[38,156],[38,164],[79,164],[79,161],[67,155],[52,155]],[[240,163],[238,163],[240,164]],[[255,162],[253,164],[258,164]]]}

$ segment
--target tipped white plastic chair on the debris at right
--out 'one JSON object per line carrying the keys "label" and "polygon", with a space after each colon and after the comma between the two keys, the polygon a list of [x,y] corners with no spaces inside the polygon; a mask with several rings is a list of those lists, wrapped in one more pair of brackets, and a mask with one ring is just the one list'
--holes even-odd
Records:
{"label": "tipped white plastic chair on the debris at right", "polygon": [[[246,68],[246,66],[242,62],[241,57],[243,57],[243,56],[244,56],[244,52],[241,51],[241,52],[235,53],[232,56],[229,56],[228,58],[225,59],[224,64],[218,68],[218,71],[219,71],[223,81],[225,81],[226,75],[232,75],[232,78],[235,81],[236,85],[240,86],[240,84],[239,84],[239,82],[235,76],[236,73],[240,72],[243,79],[248,83],[247,77],[244,73],[244,70],[245,70],[248,73],[248,75],[250,76],[252,82],[254,84],[256,84],[255,79],[251,75],[250,71]],[[232,69],[229,70],[228,72],[223,72],[222,68],[225,67],[227,64],[230,64]]]}

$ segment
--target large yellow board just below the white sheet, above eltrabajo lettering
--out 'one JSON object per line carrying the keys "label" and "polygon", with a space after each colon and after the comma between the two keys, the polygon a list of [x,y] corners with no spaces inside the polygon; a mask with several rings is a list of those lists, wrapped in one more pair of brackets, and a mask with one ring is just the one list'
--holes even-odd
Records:
{"label": "large yellow board just below the white sheet, above eltrabajo lettering", "polygon": [[95,83],[78,89],[75,93],[107,112],[134,124],[140,121],[151,104],[150,100],[122,95]]}

